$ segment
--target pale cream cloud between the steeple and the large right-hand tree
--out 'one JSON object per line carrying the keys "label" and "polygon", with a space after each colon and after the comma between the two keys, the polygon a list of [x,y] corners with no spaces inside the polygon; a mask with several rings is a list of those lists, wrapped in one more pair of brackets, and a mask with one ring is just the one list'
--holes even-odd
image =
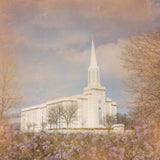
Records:
{"label": "pale cream cloud between the steeple and the large right-hand tree", "polygon": [[121,60],[121,53],[125,43],[125,40],[119,40],[117,44],[109,43],[96,49],[103,75],[118,79],[126,78],[127,73],[122,67],[123,62]]}

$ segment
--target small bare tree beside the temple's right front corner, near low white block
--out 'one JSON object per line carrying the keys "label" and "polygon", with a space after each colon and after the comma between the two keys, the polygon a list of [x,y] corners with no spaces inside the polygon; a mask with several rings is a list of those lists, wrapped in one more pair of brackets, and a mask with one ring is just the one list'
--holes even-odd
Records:
{"label": "small bare tree beside the temple's right front corner, near low white block", "polygon": [[111,126],[112,126],[113,124],[115,124],[115,123],[116,123],[116,118],[115,118],[115,116],[106,114],[106,115],[103,117],[103,125],[104,125],[106,128],[111,128]]}

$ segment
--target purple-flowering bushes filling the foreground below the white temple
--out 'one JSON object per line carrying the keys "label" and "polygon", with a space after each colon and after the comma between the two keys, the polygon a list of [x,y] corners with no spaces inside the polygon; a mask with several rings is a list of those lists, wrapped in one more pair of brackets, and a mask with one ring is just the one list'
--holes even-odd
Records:
{"label": "purple-flowering bushes filling the foreground below the white temple", "polygon": [[147,126],[134,134],[22,133],[6,129],[0,137],[3,160],[158,160]]}

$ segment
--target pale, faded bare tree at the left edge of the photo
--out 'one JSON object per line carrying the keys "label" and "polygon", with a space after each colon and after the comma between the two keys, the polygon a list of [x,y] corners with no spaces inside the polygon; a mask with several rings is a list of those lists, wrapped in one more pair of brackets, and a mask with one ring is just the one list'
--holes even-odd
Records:
{"label": "pale, faded bare tree at the left edge of the photo", "polygon": [[0,122],[6,112],[20,103],[17,87],[18,66],[10,54],[0,53]]}

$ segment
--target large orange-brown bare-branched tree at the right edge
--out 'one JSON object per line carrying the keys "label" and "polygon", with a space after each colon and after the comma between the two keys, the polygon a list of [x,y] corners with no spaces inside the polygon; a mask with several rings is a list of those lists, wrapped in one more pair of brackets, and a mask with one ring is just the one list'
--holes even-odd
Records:
{"label": "large orange-brown bare-branched tree at the right edge", "polygon": [[130,73],[125,84],[131,92],[131,113],[138,123],[160,125],[160,36],[144,34],[130,38],[123,53],[124,68]]}

